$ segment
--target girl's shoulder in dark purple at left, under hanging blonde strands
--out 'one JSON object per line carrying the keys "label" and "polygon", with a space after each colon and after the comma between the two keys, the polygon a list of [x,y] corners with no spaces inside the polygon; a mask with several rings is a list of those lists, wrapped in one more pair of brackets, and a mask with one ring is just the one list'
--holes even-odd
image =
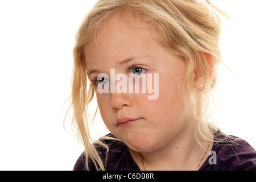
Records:
{"label": "girl's shoulder in dark purple at left, under hanging blonde strands", "polygon": [[[134,160],[131,158],[127,146],[121,141],[116,140],[112,134],[105,135],[99,140],[108,146],[108,150],[106,150],[97,144],[97,142],[94,143],[101,160],[105,162],[106,171],[132,171],[139,169],[137,164],[135,164]],[[96,170],[90,158],[88,159],[88,165],[90,170]],[[85,152],[82,152],[79,156],[73,170],[85,170]]]}

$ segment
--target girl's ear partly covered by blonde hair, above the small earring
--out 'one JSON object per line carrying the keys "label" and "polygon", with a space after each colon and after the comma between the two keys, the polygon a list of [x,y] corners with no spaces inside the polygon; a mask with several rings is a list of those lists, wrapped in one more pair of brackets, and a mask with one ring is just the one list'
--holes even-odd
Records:
{"label": "girl's ear partly covered by blonde hair, above the small earring", "polygon": [[[204,85],[205,83],[205,76],[204,74],[208,74],[209,78],[212,77],[213,74],[213,57],[209,53],[202,53],[201,60],[205,61],[205,64],[200,68],[195,69],[195,76],[194,76],[194,88],[201,91],[201,84]],[[207,73],[204,73],[202,69],[207,70]]]}

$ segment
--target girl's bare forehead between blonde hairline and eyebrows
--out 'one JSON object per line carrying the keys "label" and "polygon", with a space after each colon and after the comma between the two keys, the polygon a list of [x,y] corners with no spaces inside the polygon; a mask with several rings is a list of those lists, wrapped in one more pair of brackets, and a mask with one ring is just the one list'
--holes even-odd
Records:
{"label": "girl's bare forehead between blonde hairline and eyebrows", "polygon": [[125,53],[138,53],[144,46],[155,43],[157,37],[155,29],[138,15],[115,15],[85,45],[86,64],[90,60],[95,61],[95,57],[112,59],[128,56]]}

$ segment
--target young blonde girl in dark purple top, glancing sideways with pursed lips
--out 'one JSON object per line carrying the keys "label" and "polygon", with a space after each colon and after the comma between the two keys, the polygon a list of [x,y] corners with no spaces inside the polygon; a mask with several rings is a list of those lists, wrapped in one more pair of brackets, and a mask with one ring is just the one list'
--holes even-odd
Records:
{"label": "young blonde girl in dark purple top, glancing sideways with pursed lips", "polygon": [[[73,122],[85,147],[74,170],[256,169],[253,147],[205,117],[221,62],[220,19],[207,2],[96,3],[74,48]],[[94,93],[111,133],[92,144]]]}

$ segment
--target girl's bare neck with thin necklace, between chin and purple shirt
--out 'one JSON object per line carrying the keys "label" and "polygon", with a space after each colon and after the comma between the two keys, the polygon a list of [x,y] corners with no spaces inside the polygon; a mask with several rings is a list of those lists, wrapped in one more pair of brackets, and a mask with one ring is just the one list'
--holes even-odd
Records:
{"label": "girl's bare neck with thin necklace, between chin and purple shirt", "polygon": [[[189,128],[175,137],[167,146],[151,152],[132,152],[141,170],[196,170],[208,157],[212,143],[197,142],[195,130]],[[210,145],[209,145],[210,144]],[[205,155],[205,156],[204,156]],[[204,157],[204,158],[203,158]]]}

